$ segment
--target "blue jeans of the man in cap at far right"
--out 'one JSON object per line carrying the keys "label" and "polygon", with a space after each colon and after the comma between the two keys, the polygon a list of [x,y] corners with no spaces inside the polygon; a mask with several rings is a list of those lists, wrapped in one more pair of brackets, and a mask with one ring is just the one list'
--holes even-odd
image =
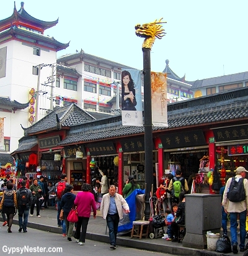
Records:
{"label": "blue jeans of the man in cap at far right", "polygon": [[246,242],[246,210],[242,213],[230,213],[231,243],[237,243],[237,214],[239,214],[240,248],[244,248]]}

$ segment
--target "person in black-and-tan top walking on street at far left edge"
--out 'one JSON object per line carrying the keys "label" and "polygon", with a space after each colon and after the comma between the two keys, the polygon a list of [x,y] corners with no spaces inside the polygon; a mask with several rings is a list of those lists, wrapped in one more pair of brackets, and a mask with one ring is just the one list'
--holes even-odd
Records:
{"label": "person in black-and-tan top walking on street at far left edge", "polygon": [[2,200],[0,203],[0,209],[3,213],[7,215],[7,231],[12,233],[11,226],[13,223],[13,218],[15,214],[15,209],[17,209],[17,198],[16,192],[13,190],[13,183],[7,183],[7,189],[2,194]]}

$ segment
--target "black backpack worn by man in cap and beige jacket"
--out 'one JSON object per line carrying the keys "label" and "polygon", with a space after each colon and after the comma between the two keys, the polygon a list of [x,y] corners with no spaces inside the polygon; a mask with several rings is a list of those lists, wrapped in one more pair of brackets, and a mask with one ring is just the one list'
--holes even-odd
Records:
{"label": "black backpack worn by man in cap and beige jacket", "polygon": [[246,200],[244,178],[239,178],[239,181],[236,181],[235,177],[232,177],[232,181],[228,190],[228,199],[231,202],[241,202]]}

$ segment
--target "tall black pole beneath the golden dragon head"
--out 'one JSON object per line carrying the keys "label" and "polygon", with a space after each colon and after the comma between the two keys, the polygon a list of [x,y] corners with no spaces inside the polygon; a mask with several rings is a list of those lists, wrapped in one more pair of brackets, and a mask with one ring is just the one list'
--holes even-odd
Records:
{"label": "tall black pole beneath the golden dragon head", "polygon": [[143,50],[143,74],[144,74],[144,164],[146,199],[144,209],[144,219],[147,221],[150,216],[149,198],[151,185],[153,184],[153,127],[151,114],[151,49]]}

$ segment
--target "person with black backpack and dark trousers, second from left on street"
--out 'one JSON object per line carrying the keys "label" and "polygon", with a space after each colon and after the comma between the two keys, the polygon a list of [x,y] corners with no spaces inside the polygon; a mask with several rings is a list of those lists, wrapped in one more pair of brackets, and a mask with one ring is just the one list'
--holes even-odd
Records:
{"label": "person with black backpack and dark trousers, second from left on street", "polygon": [[20,188],[17,190],[17,204],[18,204],[18,220],[19,232],[27,232],[27,219],[29,217],[29,208],[32,205],[33,195],[31,190],[26,188],[26,181],[20,183]]}

